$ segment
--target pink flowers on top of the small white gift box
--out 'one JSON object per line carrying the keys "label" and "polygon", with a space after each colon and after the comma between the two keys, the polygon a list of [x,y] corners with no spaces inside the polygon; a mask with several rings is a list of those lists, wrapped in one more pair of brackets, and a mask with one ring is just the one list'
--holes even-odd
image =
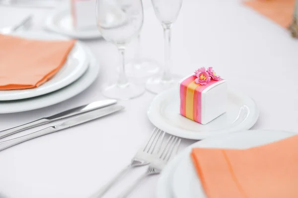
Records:
{"label": "pink flowers on top of the small white gift box", "polygon": [[201,68],[197,69],[194,73],[194,76],[197,77],[195,79],[195,82],[197,84],[201,84],[201,85],[206,85],[208,82],[211,81],[211,79],[220,80],[220,77],[221,77],[216,74],[216,72],[213,70],[212,66],[208,67],[207,70],[205,67],[201,67]]}

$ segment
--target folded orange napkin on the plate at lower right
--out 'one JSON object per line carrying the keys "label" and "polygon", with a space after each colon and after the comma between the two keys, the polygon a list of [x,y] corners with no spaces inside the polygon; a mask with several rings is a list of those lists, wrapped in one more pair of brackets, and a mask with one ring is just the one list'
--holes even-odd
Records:
{"label": "folded orange napkin on the plate at lower right", "polygon": [[249,149],[194,148],[208,198],[298,198],[298,135]]}

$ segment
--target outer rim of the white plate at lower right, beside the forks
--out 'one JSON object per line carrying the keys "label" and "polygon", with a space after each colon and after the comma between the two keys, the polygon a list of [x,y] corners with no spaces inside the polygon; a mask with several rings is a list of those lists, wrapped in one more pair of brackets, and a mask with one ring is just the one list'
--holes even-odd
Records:
{"label": "outer rim of the white plate at lower right, beside the forks", "polygon": [[[291,133],[293,135],[298,135],[297,132],[290,132],[290,131],[282,131],[282,130],[244,130],[239,132],[282,132],[282,133]],[[173,173],[176,171],[176,168],[178,167],[180,160],[187,155],[187,153],[190,152],[190,150],[193,147],[200,146],[200,144],[204,144],[205,142],[212,141],[213,139],[219,139],[226,135],[234,135],[235,133],[239,132],[233,132],[233,133],[225,133],[221,135],[217,135],[211,138],[203,139],[201,141],[197,141],[186,148],[184,148],[173,160],[171,160],[163,169],[163,171],[160,174],[160,177],[157,181],[157,187],[156,187],[156,197],[157,198],[174,198],[172,194],[172,190],[169,188],[172,188],[172,182],[173,179]],[[204,147],[204,146],[203,146]]]}

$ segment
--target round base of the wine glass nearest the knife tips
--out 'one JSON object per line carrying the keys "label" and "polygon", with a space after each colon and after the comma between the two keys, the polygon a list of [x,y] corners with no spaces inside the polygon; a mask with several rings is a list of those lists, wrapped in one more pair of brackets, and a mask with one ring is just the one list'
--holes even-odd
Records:
{"label": "round base of the wine glass nearest the knife tips", "polygon": [[102,90],[102,94],[105,97],[117,99],[117,100],[128,100],[137,98],[145,93],[145,87],[139,84],[128,82],[124,85],[112,84],[105,86]]}

